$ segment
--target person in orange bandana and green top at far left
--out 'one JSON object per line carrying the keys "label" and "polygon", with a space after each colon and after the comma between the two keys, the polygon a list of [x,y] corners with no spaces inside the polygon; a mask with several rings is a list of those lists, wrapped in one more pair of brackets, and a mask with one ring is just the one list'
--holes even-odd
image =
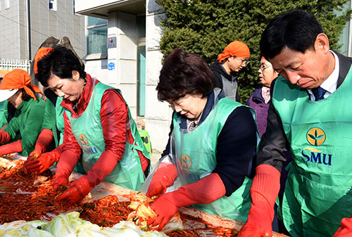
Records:
{"label": "person in orange bandana and green top at far left", "polygon": [[[16,108],[13,118],[0,130],[0,155],[21,153],[27,156],[34,150],[46,103],[34,94],[42,94],[42,91],[30,82],[30,75],[25,70],[14,69],[6,73],[0,84],[0,101],[7,100]],[[11,139],[12,142],[7,143]]]}

